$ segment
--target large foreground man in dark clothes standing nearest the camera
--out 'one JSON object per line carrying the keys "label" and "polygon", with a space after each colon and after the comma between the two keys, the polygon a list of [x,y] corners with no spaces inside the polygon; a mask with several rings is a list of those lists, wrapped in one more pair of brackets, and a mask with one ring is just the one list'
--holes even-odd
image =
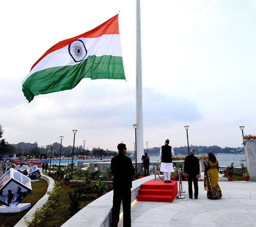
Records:
{"label": "large foreground man in dark clothes standing nearest the camera", "polygon": [[111,227],[119,222],[121,201],[123,203],[123,227],[131,227],[131,188],[134,167],[132,160],[126,157],[126,145],[117,146],[119,154],[111,160],[113,179],[113,207]]}

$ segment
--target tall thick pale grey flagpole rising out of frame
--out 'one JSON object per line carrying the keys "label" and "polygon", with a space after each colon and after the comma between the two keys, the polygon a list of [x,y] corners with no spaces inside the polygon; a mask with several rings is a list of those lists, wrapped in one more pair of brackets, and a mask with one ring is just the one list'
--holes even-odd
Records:
{"label": "tall thick pale grey flagpole rising out of frame", "polygon": [[142,108],[142,67],[141,67],[141,26],[140,0],[136,0],[136,124],[137,129],[137,157],[144,155],[143,149],[143,108]]}

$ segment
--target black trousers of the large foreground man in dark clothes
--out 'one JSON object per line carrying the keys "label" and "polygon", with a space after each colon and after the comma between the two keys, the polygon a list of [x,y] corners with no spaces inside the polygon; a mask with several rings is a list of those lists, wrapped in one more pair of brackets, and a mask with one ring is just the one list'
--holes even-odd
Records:
{"label": "black trousers of the large foreground man in dark clothes", "polygon": [[111,227],[118,225],[121,201],[123,203],[123,227],[131,227],[131,188],[114,189],[113,194]]}

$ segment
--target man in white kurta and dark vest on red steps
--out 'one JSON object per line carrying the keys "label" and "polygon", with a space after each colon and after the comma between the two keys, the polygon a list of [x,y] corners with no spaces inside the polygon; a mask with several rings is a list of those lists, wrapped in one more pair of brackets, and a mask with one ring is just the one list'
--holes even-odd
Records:
{"label": "man in white kurta and dark vest on red steps", "polygon": [[170,173],[174,172],[172,157],[174,156],[174,149],[169,146],[169,140],[165,140],[165,144],[160,148],[159,159],[161,160],[160,171],[164,174],[164,183],[170,183]]}

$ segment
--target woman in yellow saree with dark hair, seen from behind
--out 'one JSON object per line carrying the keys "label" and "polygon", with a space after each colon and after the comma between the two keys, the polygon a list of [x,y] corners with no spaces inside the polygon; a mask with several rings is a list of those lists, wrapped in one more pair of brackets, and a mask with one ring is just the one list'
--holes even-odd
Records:
{"label": "woman in yellow saree with dark hair, seen from behind", "polygon": [[209,152],[209,159],[204,161],[204,189],[207,190],[207,198],[218,199],[222,197],[218,184],[219,163],[213,152]]}

